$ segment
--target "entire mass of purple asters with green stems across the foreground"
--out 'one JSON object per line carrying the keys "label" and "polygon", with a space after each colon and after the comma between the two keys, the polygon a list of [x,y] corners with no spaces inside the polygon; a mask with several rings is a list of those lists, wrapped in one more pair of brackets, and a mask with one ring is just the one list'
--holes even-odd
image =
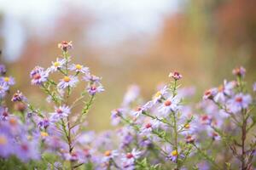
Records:
{"label": "entire mass of purple asters with green stems across the foreground", "polygon": [[11,98],[14,109],[7,107],[5,97],[15,80],[0,65],[3,169],[255,168],[256,82],[247,88],[243,67],[233,71],[236,80],[208,89],[195,104],[190,102],[195,88],[180,88],[183,76],[177,71],[148,100],[132,85],[119,108],[111,111],[115,128],[95,133],[88,130],[86,116],[104,91],[102,78],[72,62],[72,42],[58,47],[61,57],[30,73],[32,85],[47,95],[44,111],[19,90]]}

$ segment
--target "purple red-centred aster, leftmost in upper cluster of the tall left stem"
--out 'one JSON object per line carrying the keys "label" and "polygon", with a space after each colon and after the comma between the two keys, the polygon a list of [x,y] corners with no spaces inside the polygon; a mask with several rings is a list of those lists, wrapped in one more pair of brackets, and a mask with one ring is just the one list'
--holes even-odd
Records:
{"label": "purple red-centred aster, leftmost in upper cluster of the tall left stem", "polygon": [[44,68],[36,66],[30,73],[32,78],[32,84],[41,85],[43,82],[46,82],[49,77],[49,71],[44,71]]}

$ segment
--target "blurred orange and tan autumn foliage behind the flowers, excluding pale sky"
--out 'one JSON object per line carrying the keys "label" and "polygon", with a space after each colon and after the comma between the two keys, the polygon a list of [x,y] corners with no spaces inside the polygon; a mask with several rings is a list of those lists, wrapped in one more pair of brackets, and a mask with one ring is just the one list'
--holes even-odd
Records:
{"label": "blurred orange and tan autumn foliage behind the flowers, excluding pale sky", "polygon": [[[86,30],[95,20],[84,8],[70,7],[49,30],[51,36],[26,30],[24,51],[20,59],[8,64],[9,74],[18,82],[15,88],[34,104],[44,105],[46,102],[35,97],[41,94],[30,86],[29,72],[34,65],[50,65],[60,54],[57,42],[72,40],[76,62],[90,66],[103,77],[106,92],[96,99],[101,107],[90,112],[89,125],[96,130],[106,129],[110,111],[119,106],[126,87],[132,83],[140,85],[144,96],[150,98],[155,87],[166,81],[169,71],[177,70],[183,73],[183,86],[195,85],[200,97],[205,88],[220,82],[237,65],[247,68],[247,80],[252,81],[256,77],[255,6],[254,0],[183,1],[181,10],[163,19],[164,26],[155,37],[133,36],[114,47],[84,42]],[[0,38],[1,47],[3,44]]]}

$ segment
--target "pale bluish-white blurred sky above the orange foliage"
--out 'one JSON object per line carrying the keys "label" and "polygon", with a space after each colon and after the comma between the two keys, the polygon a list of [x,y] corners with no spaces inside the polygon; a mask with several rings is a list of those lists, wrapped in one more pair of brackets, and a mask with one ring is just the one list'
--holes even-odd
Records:
{"label": "pale bluish-white blurred sky above the orange foliage", "polygon": [[[179,3],[178,3],[179,2]],[[89,30],[89,37],[103,45],[119,42],[131,34],[150,33],[154,35],[166,14],[178,10],[178,0],[0,0],[3,14],[3,29],[0,36],[5,39],[8,60],[19,57],[22,43],[26,40],[22,22],[26,21],[40,32],[45,26],[53,26],[58,14],[68,4],[84,7],[96,18],[96,24]],[[15,39],[15,41],[14,41]],[[12,56],[12,57],[11,57]]]}

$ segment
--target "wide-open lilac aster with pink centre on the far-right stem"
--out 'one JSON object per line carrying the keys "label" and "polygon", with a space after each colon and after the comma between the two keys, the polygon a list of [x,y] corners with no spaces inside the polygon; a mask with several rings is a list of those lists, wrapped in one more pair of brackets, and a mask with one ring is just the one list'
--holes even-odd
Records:
{"label": "wide-open lilac aster with pink centre on the far-right stem", "polygon": [[228,109],[233,113],[237,113],[252,103],[252,97],[249,94],[236,94],[235,97],[228,101]]}

